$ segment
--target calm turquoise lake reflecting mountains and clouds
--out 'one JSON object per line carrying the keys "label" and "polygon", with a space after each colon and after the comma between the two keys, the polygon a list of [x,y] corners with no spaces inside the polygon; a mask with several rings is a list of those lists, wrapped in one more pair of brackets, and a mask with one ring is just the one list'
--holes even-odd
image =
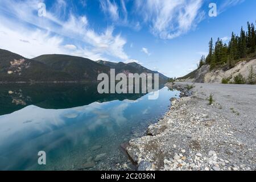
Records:
{"label": "calm turquoise lake reflecting mountains and clouds", "polygon": [[164,84],[157,100],[98,94],[97,84],[0,86],[0,170],[135,169],[121,145],[145,135],[179,95]]}

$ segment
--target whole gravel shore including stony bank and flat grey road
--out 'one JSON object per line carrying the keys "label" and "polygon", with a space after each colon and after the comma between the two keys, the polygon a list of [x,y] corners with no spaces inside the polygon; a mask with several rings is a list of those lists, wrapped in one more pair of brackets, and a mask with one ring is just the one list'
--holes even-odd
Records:
{"label": "whole gravel shore including stony bank and flat grey road", "polygon": [[148,127],[147,136],[129,142],[126,150],[138,170],[256,169],[255,85],[167,86],[183,97],[171,100],[170,111]]}

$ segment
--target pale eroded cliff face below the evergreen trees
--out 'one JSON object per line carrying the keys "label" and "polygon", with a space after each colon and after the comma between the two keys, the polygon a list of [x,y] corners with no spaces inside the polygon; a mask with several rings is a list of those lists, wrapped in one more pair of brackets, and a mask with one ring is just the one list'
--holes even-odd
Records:
{"label": "pale eroded cliff face below the evergreen trees", "polygon": [[224,69],[214,69],[210,71],[209,65],[203,65],[200,69],[197,69],[195,75],[191,78],[186,78],[177,81],[184,82],[199,82],[199,83],[221,83],[222,78],[229,78],[231,82],[234,81],[239,73],[247,80],[250,69],[253,67],[254,74],[256,74],[256,59],[250,61],[241,61],[236,64],[235,67],[224,70]]}

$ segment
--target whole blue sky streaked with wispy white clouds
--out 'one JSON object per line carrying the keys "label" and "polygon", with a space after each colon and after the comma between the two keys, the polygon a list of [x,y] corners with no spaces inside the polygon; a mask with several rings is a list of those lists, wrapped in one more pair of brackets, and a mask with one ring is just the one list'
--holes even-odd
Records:
{"label": "whole blue sky streaked with wispy white clouds", "polygon": [[[46,16],[38,16],[39,3]],[[210,17],[209,4],[217,16]],[[0,48],[136,61],[169,77],[196,68],[211,37],[229,40],[256,20],[254,0],[0,0]]]}

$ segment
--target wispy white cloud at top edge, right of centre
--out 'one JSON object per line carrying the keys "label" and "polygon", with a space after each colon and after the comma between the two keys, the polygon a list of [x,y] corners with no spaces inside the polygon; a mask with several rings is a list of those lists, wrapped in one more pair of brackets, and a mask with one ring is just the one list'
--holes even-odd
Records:
{"label": "wispy white cloud at top edge, right of centre", "polygon": [[185,34],[203,19],[203,0],[137,0],[137,11],[151,25],[152,34],[173,39]]}

